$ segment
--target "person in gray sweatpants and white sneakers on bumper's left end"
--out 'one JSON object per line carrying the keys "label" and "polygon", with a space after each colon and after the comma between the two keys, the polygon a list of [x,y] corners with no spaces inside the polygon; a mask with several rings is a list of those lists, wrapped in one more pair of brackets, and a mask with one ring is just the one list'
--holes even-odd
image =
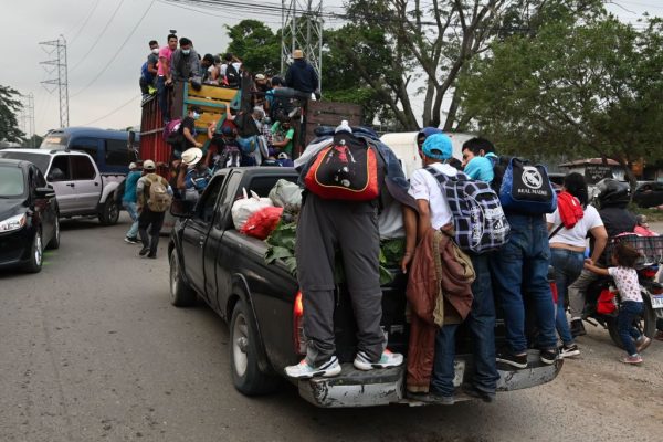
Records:
{"label": "person in gray sweatpants and white sneakers on bumper's left end", "polygon": [[[335,355],[334,335],[334,266],[337,250],[343,255],[358,329],[355,368],[371,370],[397,367],[403,361],[402,355],[386,349],[386,337],[380,328],[382,288],[379,275],[380,233],[377,199],[385,187],[387,168],[377,148],[366,139],[355,137],[347,122],[344,123],[336,129],[334,145],[314,156],[301,175],[302,182],[306,183],[306,193],[297,222],[296,260],[297,280],[303,293],[307,347],[306,357],[298,365],[285,368],[291,378],[333,377],[341,371]],[[336,155],[336,151],[341,154]],[[365,178],[369,182],[366,187],[370,187],[375,193],[356,201],[343,199],[348,198],[347,193],[341,193],[343,190],[337,194],[323,197],[325,190],[315,188],[309,178],[311,173],[316,177],[323,173],[323,166],[318,165],[325,161],[320,155],[333,159],[335,165],[346,164],[346,168],[357,167],[355,170],[373,172],[372,179],[368,176]],[[360,155],[362,157],[359,157]],[[375,162],[371,162],[371,157]],[[349,158],[357,161],[348,161]],[[355,162],[357,166],[352,165]],[[370,172],[368,175],[370,176]],[[348,186],[352,185],[348,182],[345,187]],[[334,186],[327,189],[333,192]]]}

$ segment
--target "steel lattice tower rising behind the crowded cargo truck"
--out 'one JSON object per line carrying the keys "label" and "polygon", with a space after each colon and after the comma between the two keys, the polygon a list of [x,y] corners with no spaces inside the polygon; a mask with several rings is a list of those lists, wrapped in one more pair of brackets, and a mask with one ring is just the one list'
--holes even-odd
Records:
{"label": "steel lattice tower rising behind the crowded cargo truck", "polygon": [[292,63],[296,49],[318,74],[318,88],[323,82],[323,0],[281,0],[281,72]]}

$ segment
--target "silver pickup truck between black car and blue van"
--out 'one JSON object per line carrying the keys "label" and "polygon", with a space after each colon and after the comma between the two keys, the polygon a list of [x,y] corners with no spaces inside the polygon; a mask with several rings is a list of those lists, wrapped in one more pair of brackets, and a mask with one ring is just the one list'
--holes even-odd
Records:
{"label": "silver pickup truck between black car and blue van", "polygon": [[34,164],[55,190],[60,218],[97,217],[104,225],[117,223],[115,193],[123,173],[101,173],[87,154],[63,149],[3,149],[0,158]]}

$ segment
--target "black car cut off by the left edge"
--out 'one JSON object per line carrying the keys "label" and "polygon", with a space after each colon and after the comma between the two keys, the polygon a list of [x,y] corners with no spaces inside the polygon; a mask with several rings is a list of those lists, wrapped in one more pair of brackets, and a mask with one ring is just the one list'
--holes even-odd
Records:
{"label": "black car cut off by the left edge", "polygon": [[60,246],[53,188],[33,164],[0,159],[0,269],[39,272],[44,244]]}

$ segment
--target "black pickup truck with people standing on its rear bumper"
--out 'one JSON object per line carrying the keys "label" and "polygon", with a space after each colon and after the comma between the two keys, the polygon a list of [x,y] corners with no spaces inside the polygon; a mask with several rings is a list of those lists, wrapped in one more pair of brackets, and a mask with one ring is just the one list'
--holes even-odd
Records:
{"label": "black pickup truck with people standing on its rear bumper", "polygon": [[[217,172],[191,211],[173,204],[179,218],[168,245],[170,302],[186,307],[201,297],[230,327],[230,368],[234,386],[244,394],[273,391],[285,377],[284,367],[297,364],[305,352],[302,334],[302,294],[297,281],[282,263],[266,264],[263,241],[238,232],[232,223],[232,203],[242,189],[266,197],[278,179],[295,182],[291,168],[235,168]],[[397,269],[393,282],[382,287],[382,327],[389,348],[407,355],[407,280]],[[371,407],[389,403],[421,403],[404,390],[404,365],[360,371],[351,361],[356,352],[356,326],[345,287],[338,290],[335,311],[337,355],[343,372],[335,378],[297,380],[299,394],[318,407]],[[504,336],[501,322],[497,340]],[[461,329],[457,337],[456,386],[472,373],[471,339]],[[497,343],[499,344],[499,343]],[[561,368],[539,362],[532,350],[523,370],[499,367],[498,390],[516,390],[552,380]],[[462,394],[456,400],[469,399]]]}

